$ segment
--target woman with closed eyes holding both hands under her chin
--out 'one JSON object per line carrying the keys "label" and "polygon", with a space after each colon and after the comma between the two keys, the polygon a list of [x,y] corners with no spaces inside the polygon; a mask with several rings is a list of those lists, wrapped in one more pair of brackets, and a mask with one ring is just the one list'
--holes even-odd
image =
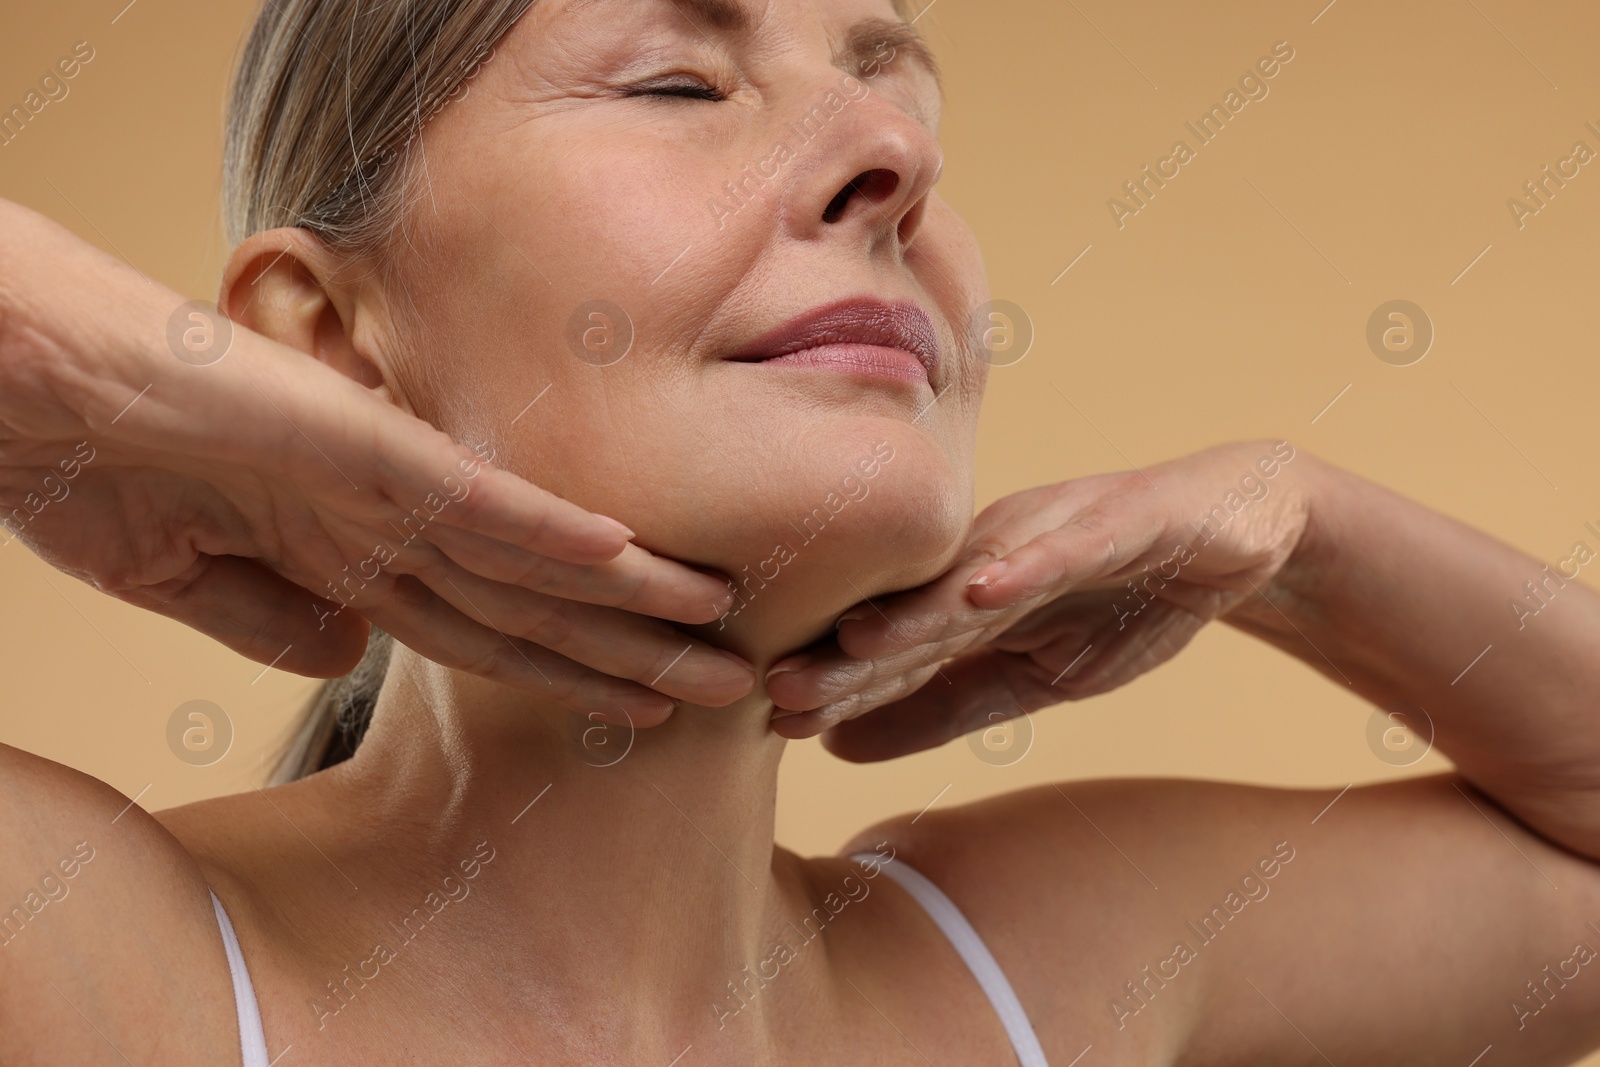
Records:
{"label": "woman with closed eyes holding both hands under her chin", "polygon": [[[1282,442],[973,523],[982,267],[933,192],[906,16],[269,3],[229,138],[232,331],[5,205],[10,528],[261,662],[333,677],[368,624],[397,641],[365,733],[370,677],[254,793],[149,814],[0,749],[0,869],[40,872],[0,1061],[1600,1043],[1600,603],[1571,584],[1509,632],[1507,595],[1565,579]],[[1077,782],[774,848],[786,737],[926,747],[1210,619],[1426,709],[1459,776]]]}

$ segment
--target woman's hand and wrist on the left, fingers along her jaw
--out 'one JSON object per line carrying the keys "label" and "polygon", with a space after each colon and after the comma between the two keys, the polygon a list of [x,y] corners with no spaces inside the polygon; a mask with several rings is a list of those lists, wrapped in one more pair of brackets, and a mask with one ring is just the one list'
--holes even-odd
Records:
{"label": "woman's hand and wrist on the left, fingers along her jaw", "polygon": [[[349,670],[368,622],[450,667],[659,723],[749,693],[725,579],[494,469],[304,354],[205,318],[0,200],[0,525],[42,558],[262,664]],[[176,323],[176,325],[174,325]],[[203,365],[197,365],[203,363]],[[656,617],[646,617],[656,616]]]}

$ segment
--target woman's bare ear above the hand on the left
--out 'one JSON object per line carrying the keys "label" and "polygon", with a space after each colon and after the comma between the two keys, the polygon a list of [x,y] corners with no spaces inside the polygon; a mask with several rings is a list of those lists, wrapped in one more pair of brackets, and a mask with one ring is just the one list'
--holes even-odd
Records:
{"label": "woman's bare ear above the hand on the left", "polygon": [[230,322],[299,349],[394,400],[389,368],[357,344],[357,315],[368,312],[358,280],[341,280],[349,264],[304,229],[251,234],[222,272],[218,306]]}

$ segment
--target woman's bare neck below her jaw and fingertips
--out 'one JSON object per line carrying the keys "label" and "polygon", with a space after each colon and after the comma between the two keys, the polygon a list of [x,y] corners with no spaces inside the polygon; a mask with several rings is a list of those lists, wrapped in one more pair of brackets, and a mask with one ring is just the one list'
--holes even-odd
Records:
{"label": "woman's bare neck below her jaw and fingertips", "polygon": [[784,741],[770,713],[757,689],[634,733],[397,646],[338,781],[350,803],[382,813],[394,880],[413,894],[419,859],[440,877],[480,861],[482,904],[462,902],[451,921],[502,944],[506,981],[558,1027],[592,1035],[594,1005],[627,1003],[626,1032],[594,1037],[616,1053],[624,1033],[642,1040],[642,1022],[659,1021],[670,1045],[726,1003],[755,1035],[762,1005],[741,1008],[730,982],[816,902],[773,843]]}

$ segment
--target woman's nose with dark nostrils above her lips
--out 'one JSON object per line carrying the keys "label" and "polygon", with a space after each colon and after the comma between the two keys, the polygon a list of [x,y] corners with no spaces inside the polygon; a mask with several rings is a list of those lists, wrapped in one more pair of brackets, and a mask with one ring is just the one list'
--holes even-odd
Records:
{"label": "woman's nose with dark nostrils above her lips", "polygon": [[800,240],[845,237],[902,254],[922,227],[944,155],[925,125],[866,82],[846,78],[850,83],[853,93],[832,94],[842,101],[837,114],[818,107],[789,126],[798,138],[818,115],[830,114],[797,154],[800,166],[784,190],[782,224]]}

